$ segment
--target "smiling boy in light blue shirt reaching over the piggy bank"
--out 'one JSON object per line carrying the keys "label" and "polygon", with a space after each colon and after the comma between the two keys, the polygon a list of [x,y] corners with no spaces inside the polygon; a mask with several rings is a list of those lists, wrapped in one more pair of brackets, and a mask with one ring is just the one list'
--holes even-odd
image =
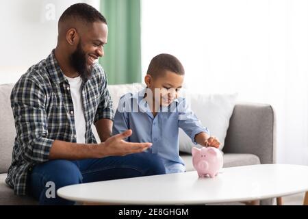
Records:
{"label": "smiling boy in light blue shirt reaching over the piggy bank", "polygon": [[185,99],[178,96],[185,71],[177,57],[160,54],[151,60],[144,81],[146,88],[136,94],[121,97],[114,117],[113,134],[127,129],[133,131],[129,142],[152,142],[146,152],[157,154],[166,173],[185,172],[179,156],[179,127],[194,144],[214,146],[220,142],[209,136],[189,109]]}

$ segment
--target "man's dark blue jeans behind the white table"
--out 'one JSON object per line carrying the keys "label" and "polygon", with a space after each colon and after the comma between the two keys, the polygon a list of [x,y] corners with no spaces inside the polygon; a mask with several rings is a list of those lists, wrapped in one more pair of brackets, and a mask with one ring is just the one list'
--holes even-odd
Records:
{"label": "man's dark blue jeans behind the white table", "polygon": [[157,155],[136,153],[125,157],[104,157],[69,161],[55,159],[34,166],[29,175],[29,194],[40,205],[74,205],[75,202],[49,194],[50,182],[55,191],[66,185],[165,174],[164,164]]}

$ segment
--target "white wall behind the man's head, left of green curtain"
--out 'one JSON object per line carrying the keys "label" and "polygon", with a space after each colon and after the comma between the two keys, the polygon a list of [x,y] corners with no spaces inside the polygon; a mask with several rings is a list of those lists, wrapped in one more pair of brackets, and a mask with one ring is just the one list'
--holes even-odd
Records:
{"label": "white wall behind the man's head, left of green curtain", "polygon": [[0,1],[0,84],[16,82],[51,53],[57,43],[58,19],[77,2],[99,8],[99,0]]}

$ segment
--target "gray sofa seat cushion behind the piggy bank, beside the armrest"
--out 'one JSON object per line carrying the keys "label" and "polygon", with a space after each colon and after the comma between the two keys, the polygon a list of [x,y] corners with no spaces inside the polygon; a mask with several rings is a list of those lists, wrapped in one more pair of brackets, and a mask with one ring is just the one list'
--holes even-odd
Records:
{"label": "gray sofa seat cushion behind the piggy bank, beside the armrest", "polygon": [[[192,166],[192,155],[188,153],[181,153],[180,155],[185,163],[186,171],[194,171],[194,166]],[[259,157],[256,155],[244,153],[224,154],[224,168],[254,164],[261,164]]]}

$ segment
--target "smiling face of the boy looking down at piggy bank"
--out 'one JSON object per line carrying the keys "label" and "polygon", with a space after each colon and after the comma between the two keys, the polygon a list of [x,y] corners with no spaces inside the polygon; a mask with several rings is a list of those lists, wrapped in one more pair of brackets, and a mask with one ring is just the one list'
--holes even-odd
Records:
{"label": "smiling face of the boy looking down at piggy bank", "polygon": [[168,106],[177,99],[179,90],[183,86],[184,75],[177,75],[177,73],[165,70],[162,76],[155,78],[146,75],[144,81],[152,91],[153,101],[156,104],[159,103],[160,106]]}

